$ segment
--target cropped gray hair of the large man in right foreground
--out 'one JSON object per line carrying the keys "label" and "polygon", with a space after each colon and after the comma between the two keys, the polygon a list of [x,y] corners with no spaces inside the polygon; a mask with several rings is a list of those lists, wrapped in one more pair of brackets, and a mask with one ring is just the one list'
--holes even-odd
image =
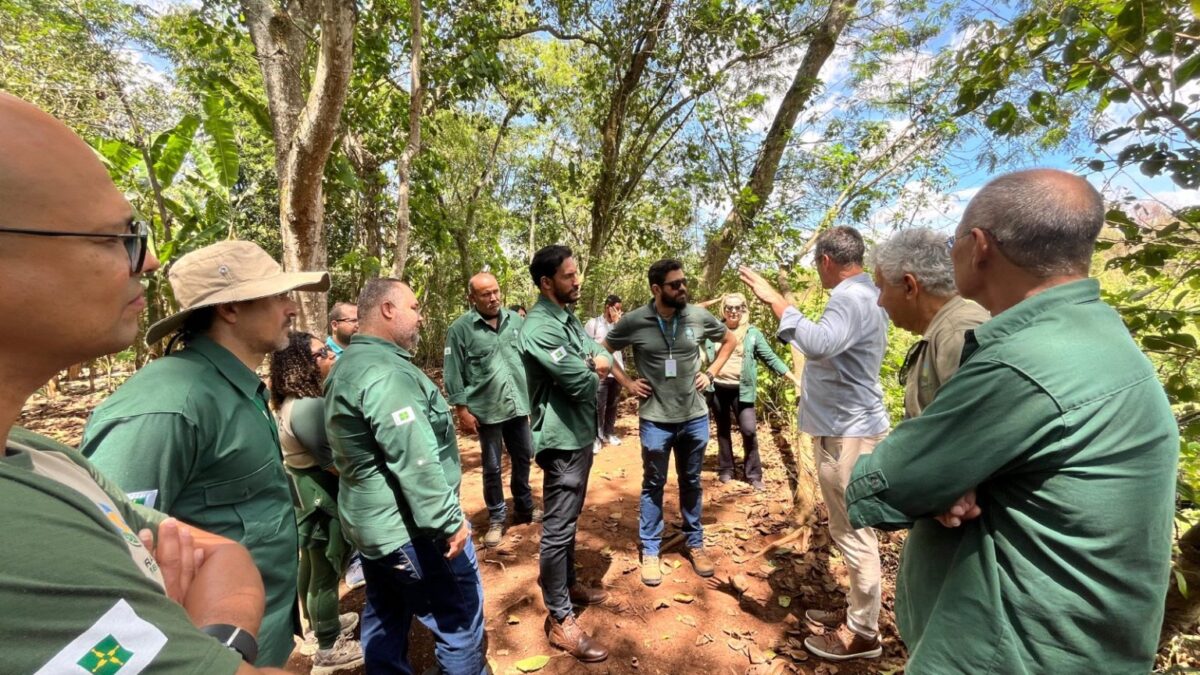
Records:
{"label": "cropped gray hair of the large man in right foreground", "polygon": [[959,233],[991,233],[1013,264],[1039,276],[1087,274],[1104,227],[1104,199],[1086,180],[1056,169],[1002,175],[962,214]]}

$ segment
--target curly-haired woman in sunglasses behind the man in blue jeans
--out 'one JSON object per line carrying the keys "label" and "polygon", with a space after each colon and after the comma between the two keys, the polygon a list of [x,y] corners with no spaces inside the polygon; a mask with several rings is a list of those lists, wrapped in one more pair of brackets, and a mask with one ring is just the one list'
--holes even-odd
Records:
{"label": "curly-haired woman in sunglasses behind the man in blue jeans", "polygon": [[325,437],[322,387],[336,357],[324,342],[293,331],[271,354],[271,407],[280,426],[283,465],[296,488],[300,534],[300,597],[317,634],[312,673],[322,675],[362,663],[349,638],[358,616],[337,614],[337,583],[349,554],[337,516],[337,470]]}

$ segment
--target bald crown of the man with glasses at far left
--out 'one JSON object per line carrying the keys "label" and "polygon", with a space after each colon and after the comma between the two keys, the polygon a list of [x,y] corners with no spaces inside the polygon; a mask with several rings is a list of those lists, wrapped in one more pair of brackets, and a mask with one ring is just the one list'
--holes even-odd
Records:
{"label": "bald crown of the man with glasses at far left", "polygon": [[96,154],[59,120],[0,94],[0,227],[79,229],[127,221],[130,205]]}

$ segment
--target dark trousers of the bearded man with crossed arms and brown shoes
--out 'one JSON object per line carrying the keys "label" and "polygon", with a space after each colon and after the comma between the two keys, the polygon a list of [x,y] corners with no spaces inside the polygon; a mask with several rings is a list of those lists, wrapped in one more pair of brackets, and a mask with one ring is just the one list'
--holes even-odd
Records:
{"label": "dark trousers of the bearded man with crossed arms and brown shoes", "polygon": [[575,585],[575,528],[588,492],[592,448],[542,450],[538,466],[542,477],[541,501],[541,599],[556,621],[571,615],[568,590]]}

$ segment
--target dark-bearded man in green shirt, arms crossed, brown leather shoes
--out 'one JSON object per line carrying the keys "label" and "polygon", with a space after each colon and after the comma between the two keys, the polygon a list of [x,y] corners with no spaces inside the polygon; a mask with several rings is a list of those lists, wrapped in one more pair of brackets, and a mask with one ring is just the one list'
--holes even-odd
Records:
{"label": "dark-bearded man in green shirt, arms crossed, brown leather shoes", "polygon": [[541,297],[521,330],[521,358],[533,404],[533,443],[542,478],[539,583],[550,613],[550,644],[582,662],[608,658],[576,621],[571,604],[599,604],[608,595],[575,579],[575,532],[588,491],[596,435],[596,388],[612,357],[583,331],[566,306],[580,299],[580,273],[566,246],[539,250],[529,276]]}

